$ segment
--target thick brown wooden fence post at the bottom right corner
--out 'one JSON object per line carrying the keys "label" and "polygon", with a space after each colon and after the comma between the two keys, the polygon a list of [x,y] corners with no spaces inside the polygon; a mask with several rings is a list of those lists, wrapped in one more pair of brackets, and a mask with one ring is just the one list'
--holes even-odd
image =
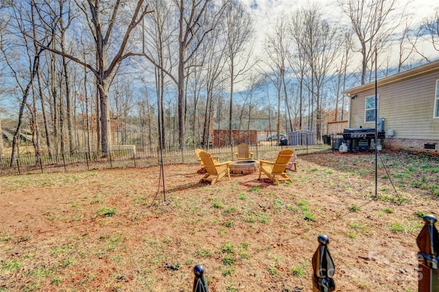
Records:
{"label": "thick brown wooden fence post at the bottom right corner", "polygon": [[423,217],[425,225],[420,230],[416,244],[418,252],[418,292],[439,292],[439,234],[433,215]]}

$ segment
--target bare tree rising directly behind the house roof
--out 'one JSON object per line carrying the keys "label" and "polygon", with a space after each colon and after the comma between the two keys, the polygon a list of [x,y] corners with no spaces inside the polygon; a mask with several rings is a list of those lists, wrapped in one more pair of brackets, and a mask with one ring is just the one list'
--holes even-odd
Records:
{"label": "bare tree rising directly behind the house roof", "polygon": [[361,84],[364,84],[368,68],[373,67],[370,62],[373,62],[375,49],[382,49],[399,25],[399,20],[392,21],[390,15],[396,7],[396,0],[339,0],[339,3],[359,40]]}

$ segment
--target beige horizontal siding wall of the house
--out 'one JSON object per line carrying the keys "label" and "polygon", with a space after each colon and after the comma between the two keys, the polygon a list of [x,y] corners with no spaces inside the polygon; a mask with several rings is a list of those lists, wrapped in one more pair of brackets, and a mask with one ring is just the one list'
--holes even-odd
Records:
{"label": "beige horizontal siding wall of the house", "polygon": [[[418,71],[411,70],[417,72],[416,74],[403,72],[394,77],[383,78],[381,85],[380,81],[378,82],[378,117],[385,119],[386,134],[388,130],[394,130],[392,137],[394,143],[391,142],[391,146],[423,149],[425,143],[437,143],[436,150],[439,149],[439,119],[434,118],[439,61],[434,63],[436,63],[433,64],[435,67],[429,64],[427,73],[422,74],[423,66],[420,66]],[[364,121],[366,97],[375,95],[373,85],[366,84],[346,91],[351,97],[357,95],[350,101],[348,127],[375,127],[375,121],[372,123]]]}

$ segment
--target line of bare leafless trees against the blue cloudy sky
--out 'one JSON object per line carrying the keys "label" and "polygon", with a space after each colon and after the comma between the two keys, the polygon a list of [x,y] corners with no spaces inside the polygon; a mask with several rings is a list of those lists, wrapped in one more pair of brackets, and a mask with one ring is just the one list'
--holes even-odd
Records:
{"label": "line of bare leafless trees against the blue cloudy sky", "polygon": [[262,43],[255,8],[236,0],[0,3],[11,165],[23,132],[37,158],[208,145],[214,127],[232,145],[232,130],[254,121],[278,137],[320,137],[327,121],[346,119],[346,88],[372,81],[377,67],[385,76],[430,62],[425,43],[439,51],[439,8],[416,24],[396,0],[338,0],[346,22],[309,3],[274,19]]}

